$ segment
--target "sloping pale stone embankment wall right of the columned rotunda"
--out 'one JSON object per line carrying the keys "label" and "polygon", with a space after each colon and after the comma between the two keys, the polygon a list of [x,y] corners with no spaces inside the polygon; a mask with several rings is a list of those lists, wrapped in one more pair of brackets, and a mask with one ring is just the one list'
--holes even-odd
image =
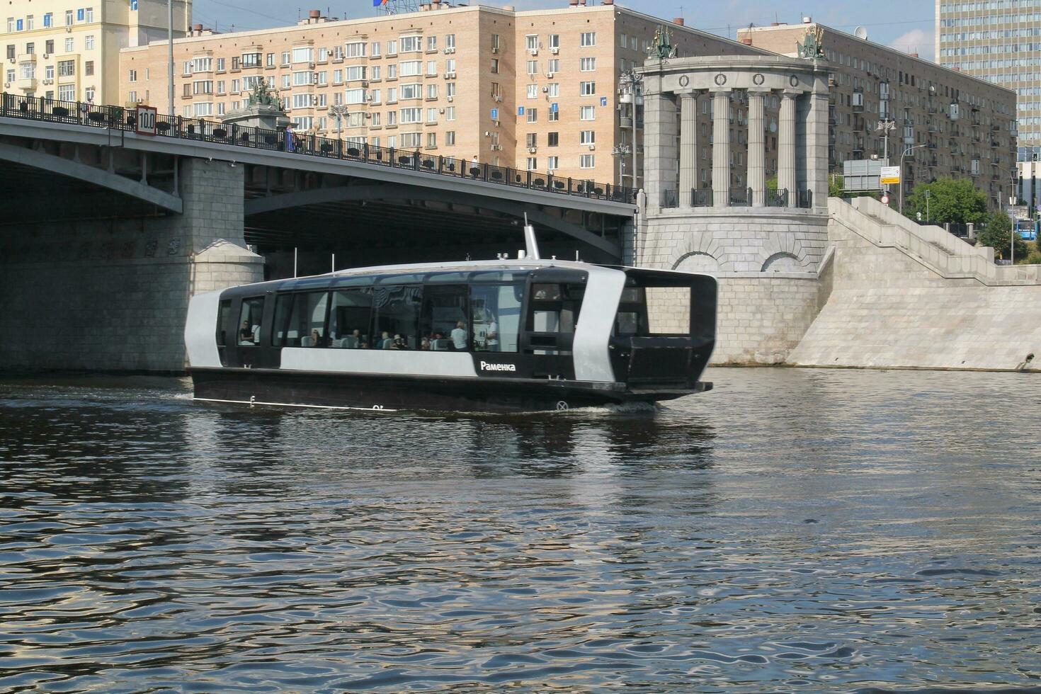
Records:
{"label": "sloping pale stone embankment wall right of the columned rotunda", "polygon": [[920,227],[871,199],[832,200],[830,211],[833,288],[787,363],[1041,367],[1037,266],[995,265],[990,249]]}

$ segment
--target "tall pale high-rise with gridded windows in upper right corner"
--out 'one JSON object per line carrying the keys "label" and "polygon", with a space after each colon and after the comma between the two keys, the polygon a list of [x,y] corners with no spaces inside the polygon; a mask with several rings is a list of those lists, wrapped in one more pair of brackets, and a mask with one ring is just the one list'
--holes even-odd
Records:
{"label": "tall pale high-rise with gridded windows in upper right corner", "polygon": [[1041,0],[936,0],[936,59],[1015,92],[1019,158],[1041,154]]}

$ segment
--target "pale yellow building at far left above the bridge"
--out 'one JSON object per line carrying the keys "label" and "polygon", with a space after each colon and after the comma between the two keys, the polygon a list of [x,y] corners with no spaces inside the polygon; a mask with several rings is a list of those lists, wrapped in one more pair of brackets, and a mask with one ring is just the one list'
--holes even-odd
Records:
{"label": "pale yellow building at far left above the bridge", "polygon": [[[120,101],[119,51],[167,36],[166,0],[8,0],[3,91],[62,101]],[[174,35],[192,0],[174,2]]]}

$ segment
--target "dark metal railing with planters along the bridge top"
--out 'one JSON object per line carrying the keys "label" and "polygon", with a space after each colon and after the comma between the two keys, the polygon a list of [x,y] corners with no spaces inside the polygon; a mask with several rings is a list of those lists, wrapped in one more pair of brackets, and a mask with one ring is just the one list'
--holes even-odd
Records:
{"label": "dark metal railing with planters along the bridge top", "polygon": [[[129,132],[134,132],[137,129],[134,109],[60,101],[44,97],[23,97],[14,94],[0,94],[0,117],[102,127]],[[155,130],[156,136],[159,137],[195,139],[228,147],[247,147],[273,152],[290,152],[302,156],[358,161],[392,169],[408,169],[434,176],[454,176],[530,190],[543,190],[563,196],[624,203],[634,203],[636,200],[636,189],[631,187],[557,176],[553,172],[541,173],[510,166],[496,166],[486,162],[428,154],[417,148],[377,147],[312,134],[290,134],[284,129],[270,130],[268,128],[229,125],[179,115],[158,115]]]}

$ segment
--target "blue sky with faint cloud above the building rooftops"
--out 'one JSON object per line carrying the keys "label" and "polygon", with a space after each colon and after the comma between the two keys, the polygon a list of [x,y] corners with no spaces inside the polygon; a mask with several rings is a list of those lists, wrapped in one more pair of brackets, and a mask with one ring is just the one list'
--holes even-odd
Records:
{"label": "blue sky with faint cloud above the building rooftops", "polygon": [[[932,0],[873,0],[870,3],[863,0],[799,0],[798,4],[776,0],[716,0],[712,3],[696,0],[616,1],[619,5],[656,17],[683,17],[687,26],[721,36],[729,34],[730,38],[735,37],[738,27],[750,23],[766,25],[780,21],[793,24],[803,16],[810,16],[814,21],[849,33],[863,26],[867,29],[868,40],[874,43],[918,53],[928,59],[934,57],[935,5]],[[322,2],[324,4],[319,4]],[[600,4],[600,0],[595,3]],[[312,0],[309,3],[308,0],[194,0],[193,4],[194,22],[207,27],[215,26],[220,31],[296,24],[298,17],[319,7],[323,12],[331,9],[333,17],[341,19],[374,17],[377,14],[371,0]],[[472,0],[469,4],[512,4],[517,9],[541,9],[566,7],[567,0]]]}

